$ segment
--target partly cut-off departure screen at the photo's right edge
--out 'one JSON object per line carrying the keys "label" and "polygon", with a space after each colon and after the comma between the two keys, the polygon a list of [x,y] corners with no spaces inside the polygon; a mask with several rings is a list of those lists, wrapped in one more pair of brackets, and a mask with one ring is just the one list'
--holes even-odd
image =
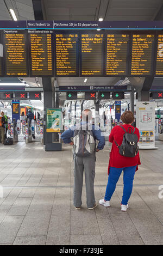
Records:
{"label": "partly cut-off departure screen at the photo's right edge", "polygon": [[158,48],[156,58],[156,75],[163,75],[163,34],[158,35]]}

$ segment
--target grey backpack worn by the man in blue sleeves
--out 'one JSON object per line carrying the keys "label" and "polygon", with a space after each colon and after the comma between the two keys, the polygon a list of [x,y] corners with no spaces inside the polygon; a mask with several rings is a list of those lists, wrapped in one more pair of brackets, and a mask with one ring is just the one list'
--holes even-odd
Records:
{"label": "grey backpack worn by the man in blue sleeves", "polygon": [[85,157],[90,156],[95,152],[96,142],[93,137],[93,132],[90,129],[82,130],[82,125],[77,127],[74,131],[73,143],[74,143],[74,153],[76,156]]}

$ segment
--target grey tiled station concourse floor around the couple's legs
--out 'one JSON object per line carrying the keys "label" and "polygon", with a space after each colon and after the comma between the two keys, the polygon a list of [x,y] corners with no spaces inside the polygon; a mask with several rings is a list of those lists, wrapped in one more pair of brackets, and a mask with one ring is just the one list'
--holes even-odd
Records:
{"label": "grey tiled station concourse floor around the couple's legs", "polygon": [[[0,144],[0,245],[162,245],[163,142],[140,150],[127,212],[121,212],[123,175],[111,208],[74,209],[70,145],[46,152],[40,142]],[[96,202],[104,197],[110,146],[96,154]],[[162,193],[163,194],[163,193]],[[2,194],[1,194],[2,197]]]}

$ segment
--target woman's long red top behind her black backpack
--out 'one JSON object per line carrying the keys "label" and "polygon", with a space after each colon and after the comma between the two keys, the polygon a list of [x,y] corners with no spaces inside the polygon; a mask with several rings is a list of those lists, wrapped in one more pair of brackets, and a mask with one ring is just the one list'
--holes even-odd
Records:
{"label": "woman's long red top behind her black backpack", "polygon": [[[129,124],[124,124],[122,126],[126,131],[128,131],[129,127],[131,127],[132,131],[134,130],[134,127]],[[131,132],[131,129],[129,129],[129,132]],[[138,139],[140,138],[139,129],[135,128],[134,134],[137,135]],[[112,143],[112,148],[110,152],[108,174],[109,174],[110,167],[123,168],[123,167],[130,167],[130,166],[138,166],[138,164],[141,164],[139,152],[134,157],[127,157],[127,156],[120,155],[119,149],[116,143],[118,145],[122,144],[123,135],[124,135],[124,130],[119,125],[115,126],[110,132],[109,142]],[[114,140],[116,141],[116,143]],[[136,167],[136,170],[137,169],[138,167]]]}

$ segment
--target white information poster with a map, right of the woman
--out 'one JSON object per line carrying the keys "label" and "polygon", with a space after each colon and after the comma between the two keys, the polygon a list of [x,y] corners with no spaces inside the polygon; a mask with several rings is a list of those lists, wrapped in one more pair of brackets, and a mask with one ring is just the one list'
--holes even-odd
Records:
{"label": "white information poster with a map, right of the woman", "polygon": [[137,102],[136,127],[140,132],[139,148],[155,149],[155,102]]}

